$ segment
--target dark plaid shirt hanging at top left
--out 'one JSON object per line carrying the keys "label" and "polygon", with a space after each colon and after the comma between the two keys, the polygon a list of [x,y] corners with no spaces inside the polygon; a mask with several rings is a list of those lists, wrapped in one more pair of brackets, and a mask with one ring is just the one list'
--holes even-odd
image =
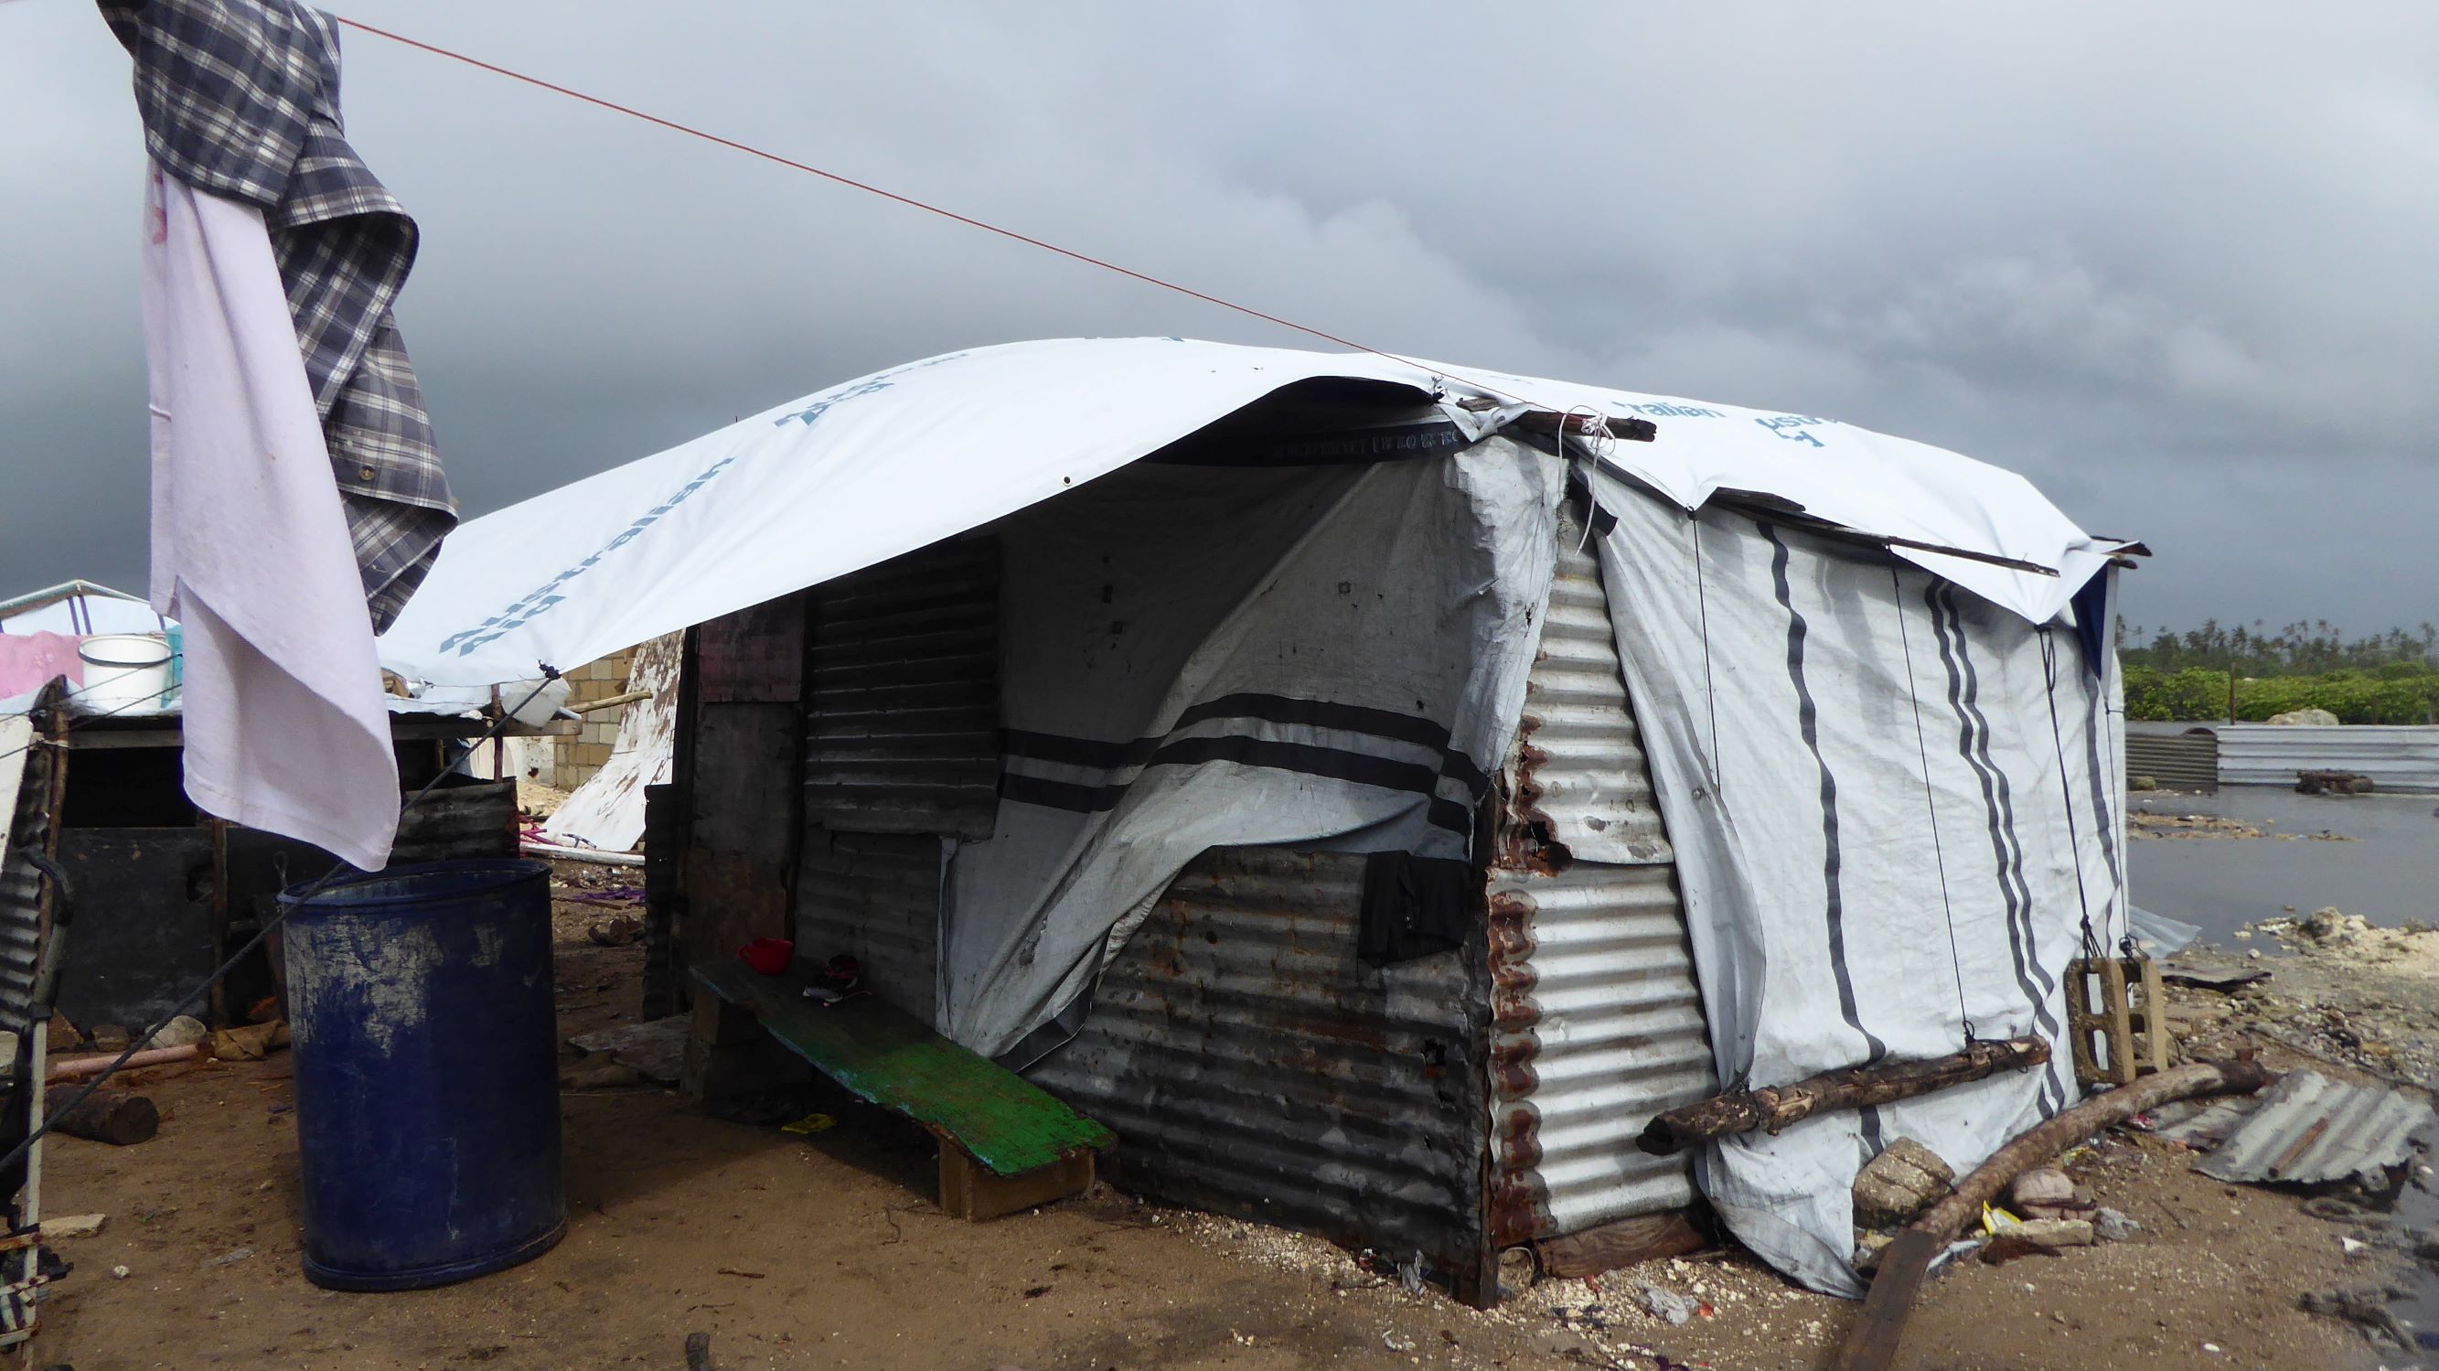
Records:
{"label": "dark plaid shirt hanging at top left", "polygon": [[163,171],[263,210],[346,507],[373,632],[405,607],[456,500],[390,302],[415,220],[346,144],[339,27],[290,0],[100,0],[134,56]]}

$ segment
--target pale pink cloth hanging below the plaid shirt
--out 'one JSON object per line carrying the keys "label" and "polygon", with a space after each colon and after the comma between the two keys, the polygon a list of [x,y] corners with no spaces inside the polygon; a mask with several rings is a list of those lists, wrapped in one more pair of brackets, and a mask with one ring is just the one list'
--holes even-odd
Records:
{"label": "pale pink cloth hanging below the plaid shirt", "polygon": [[151,600],[185,625],[185,793],[380,871],[398,759],[373,620],[261,210],[151,168]]}

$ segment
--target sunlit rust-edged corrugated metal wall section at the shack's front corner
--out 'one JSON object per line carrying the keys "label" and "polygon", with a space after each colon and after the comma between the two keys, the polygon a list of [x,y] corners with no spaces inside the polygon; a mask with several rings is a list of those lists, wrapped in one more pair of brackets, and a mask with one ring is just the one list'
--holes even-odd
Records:
{"label": "sunlit rust-edged corrugated metal wall section at the shack's front corner", "polygon": [[1717,1090],[1673,849],[1598,561],[1561,529],[1490,878],[1498,1244],[1685,1208],[1690,1159],[1637,1134]]}

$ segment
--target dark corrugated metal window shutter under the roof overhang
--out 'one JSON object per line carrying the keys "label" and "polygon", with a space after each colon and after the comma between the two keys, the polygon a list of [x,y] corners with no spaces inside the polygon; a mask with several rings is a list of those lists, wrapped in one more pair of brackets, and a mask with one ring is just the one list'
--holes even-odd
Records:
{"label": "dark corrugated metal window shutter under the roof overhang", "polygon": [[805,815],[988,839],[1000,810],[1000,544],[966,537],[812,593]]}

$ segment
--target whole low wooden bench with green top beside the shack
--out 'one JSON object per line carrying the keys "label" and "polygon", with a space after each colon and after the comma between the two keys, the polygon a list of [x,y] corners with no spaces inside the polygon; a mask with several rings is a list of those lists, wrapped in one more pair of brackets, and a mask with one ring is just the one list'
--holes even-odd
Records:
{"label": "whole low wooden bench with green top beside the shack", "polygon": [[873,995],[817,1005],[802,978],[761,976],[739,961],[695,966],[693,976],[705,990],[685,1054],[693,1098],[722,1093],[722,1056],[768,1034],[854,1095],[927,1127],[939,1139],[939,1208],[956,1217],[990,1220],[1083,1193],[1093,1154],[1117,1142],[1032,1081]]}

